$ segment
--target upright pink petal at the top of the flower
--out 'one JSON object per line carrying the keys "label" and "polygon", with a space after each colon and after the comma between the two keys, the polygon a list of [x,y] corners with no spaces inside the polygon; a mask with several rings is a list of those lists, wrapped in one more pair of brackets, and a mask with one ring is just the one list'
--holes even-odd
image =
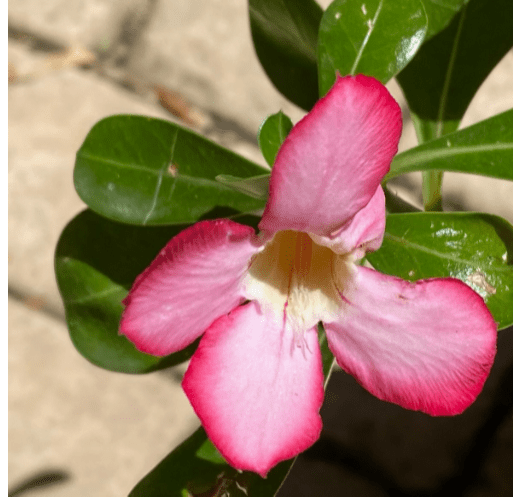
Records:
{"label": "upright pink petal at the top of the flower", "polygon": [[330,235],[373,197],[397,152],[399,105],[376,79],[339,77],[276,157],[265,231]]}

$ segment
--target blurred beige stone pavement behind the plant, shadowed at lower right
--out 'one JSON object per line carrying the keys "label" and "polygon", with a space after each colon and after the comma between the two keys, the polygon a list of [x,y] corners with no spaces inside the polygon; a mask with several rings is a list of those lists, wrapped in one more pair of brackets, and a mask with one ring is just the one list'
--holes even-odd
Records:
{"label": "blurred beige stone pavement behind the plant, shadowed at lower right", "polygon": [[[12,495],[42,497],[126,495],[195,429],[197,420],[180,389],[178,370],[146,376],[109,373],[84,360],[70,342],[54,281],[53,252],[66,223],[84,208],[72,185],[75,152],[99,119],[136,113],[188,124],[261,162],[255,136],[263,118],[282,109],[297,121],[303,113],[264,75],[250,40],[245,0],[16,0],[9,4],[8,54],[10,490]],[[397,85],[391,82],[389,87],[402,103]],[[510,107],[512,54],[479,90],[464,125]],[[413,144],[408,119],[401,148]],[[510,183],[446,176],[450,203],[512,220]],[[398,186],[417,201],[418,181],[418,175],[411,175]],[[507,376],[508,334],[503,332],[504,359],[497,378]],[[355,382],[341,373],[334,378],[327,394],[330,406],[346,404],[344,397],[349,405],[341,411],[341,423],[326,406],[325,424],[331,428],[323,443],[329,444],[324,453],[339,451],[341,457],[327,461],[320,445],[302,458],[302,474],[317,471],[322,482],[337,478],[358,489],[352,495],[385,495],[392,485],[404,490],[435,487],[455,464],[441,452],[450,453],[450,447],[460,451],[474,439],[478,420],[494,412],[490,387],[477,409],[483,417],[463,423],[469,428],[458,445],[446,442],[434,451],[432,461],[441,460],[445,467],[429,461],[434,470],[423,474],[403,455],[403,444],[411,443],[403,426],[420,425],[417,433],[426,441],[412,447],[419,452],[428,452],[428,443],[435,445],[439,432],[393,406],[381,407],[373,399],[366,404]],[[495,427],[498,435],[489,449],[506,464],[511,433],[507,416]],[[443,426],[436,429],[442,432]],[[381,437],[385,444],[377,456],[372,451]],[[393,467],[385,452],[392,447],[402,452],[393,458]],[[357,466],[357,456],[372,461],[373,471]],[[491,465],[486,471],[493,488],[504,480],[507,491],[507,474],[501,479],[500,469],[493,468],[495,459],[486,457],[481,467]],[[347,461],[348,471],[338,460]],[[332,470],[323,472],[323,467]],[[383,482],[373,478],[377,468],[384,468]],[[414,483],[417,475],[422,483]],[[290,495],[304,495],[290,481],[286,492],[292,488]],[[35,482],[43,486],[31,490]]]}

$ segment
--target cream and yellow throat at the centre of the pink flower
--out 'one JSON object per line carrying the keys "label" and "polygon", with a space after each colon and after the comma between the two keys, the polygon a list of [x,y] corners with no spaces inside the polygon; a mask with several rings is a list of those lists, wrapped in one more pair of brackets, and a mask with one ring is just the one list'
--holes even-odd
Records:
{"label": "cream and yellow throat at the centre of the pink flower", "polygon": [[[278,315],[295,332],[330,321],[343,305],[335,273],[343,256],[316,244],[306,233],[281,231],[255,256],[246,294]],[[340,271],[341,272],[341,271]]]}

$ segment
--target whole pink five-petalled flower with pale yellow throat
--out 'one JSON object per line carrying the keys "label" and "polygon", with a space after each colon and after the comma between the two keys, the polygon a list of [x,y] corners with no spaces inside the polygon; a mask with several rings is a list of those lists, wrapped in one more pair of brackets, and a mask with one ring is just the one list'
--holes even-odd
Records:
{"label": "whole pink five-petalled flower with pale yellow throat", "polygon": [[497,328],[479,295],[355,264],[381,245],[401,126],[382,84],[338,78],[280,148],[260,234],[199,222],[124,300],[121,333],[139,350],[171,354],[202,335],[182,385],[238,469],[265,476],[318,439],[320,321],[341,368],[379,399],[453,415],[482,389]]}

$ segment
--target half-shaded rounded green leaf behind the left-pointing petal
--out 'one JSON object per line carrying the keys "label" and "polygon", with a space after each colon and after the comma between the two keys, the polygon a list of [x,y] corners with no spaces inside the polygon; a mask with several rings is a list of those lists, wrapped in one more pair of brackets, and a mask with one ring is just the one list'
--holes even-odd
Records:
{"label": "half-shaded rounded green leaf behind the left-pointing petal", "polygon": [[55,254],[67,325],[78,351],[121,373],[147,373],[186,361],[196,348],[167,357],[139,352],[119,335],[123,305],[135,277],[183,227],[137,227],[85,210],[63,230]]}

